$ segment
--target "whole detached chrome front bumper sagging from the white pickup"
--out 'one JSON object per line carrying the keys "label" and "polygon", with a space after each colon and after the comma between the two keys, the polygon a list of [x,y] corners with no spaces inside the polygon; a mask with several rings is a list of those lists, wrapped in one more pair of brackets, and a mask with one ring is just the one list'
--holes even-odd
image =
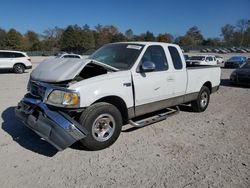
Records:
{"label": "whole detached chrome front bumper sagging from the white pickup", "polygon": [[83,139],[88,131],[60,111],[50,110],[41,100],[24,97],[15,109],[16,117],[58,150]]}

